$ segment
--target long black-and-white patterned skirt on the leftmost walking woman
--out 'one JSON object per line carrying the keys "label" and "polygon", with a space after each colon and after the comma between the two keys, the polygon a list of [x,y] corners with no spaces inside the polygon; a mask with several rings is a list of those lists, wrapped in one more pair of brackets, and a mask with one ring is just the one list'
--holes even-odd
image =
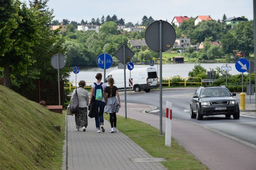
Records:
{"label": "long black-and-white patterned skirt on the leftmost walking woman", "polygon": [[78,107],[75,113],[76,129],[88,126],[87,107]]}

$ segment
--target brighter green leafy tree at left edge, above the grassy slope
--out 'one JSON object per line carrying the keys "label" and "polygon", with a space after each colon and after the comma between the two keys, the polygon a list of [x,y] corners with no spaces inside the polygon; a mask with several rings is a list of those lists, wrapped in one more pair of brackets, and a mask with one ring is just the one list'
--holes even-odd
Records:
{"label": "brighter green leafy tree at left edge, above the grassy slope", "polygon": [[3,1],[0,8],[0,67],[4,68],[4,86],[11,88],[10,77],[17,72],[26,74],[28,65],[34,63],[30,54],[31,47],[40,39],[40,12],[28,9],[18,0]]}

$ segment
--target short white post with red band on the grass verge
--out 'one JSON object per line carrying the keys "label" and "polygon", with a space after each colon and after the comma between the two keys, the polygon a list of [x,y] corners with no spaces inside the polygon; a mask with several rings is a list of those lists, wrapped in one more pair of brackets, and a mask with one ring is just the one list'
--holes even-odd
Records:
{"label": "short white post with red band on the grass verge", "polygon": [[172,140],[172,103],[166,101],[165,146],[170,147]]}

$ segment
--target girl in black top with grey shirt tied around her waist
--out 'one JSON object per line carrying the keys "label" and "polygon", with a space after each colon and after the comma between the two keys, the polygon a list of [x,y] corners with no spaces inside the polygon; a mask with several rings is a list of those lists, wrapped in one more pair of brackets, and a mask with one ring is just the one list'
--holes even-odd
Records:
{"label": "girl in black top with grey shirt tied around her waist", "polygon": [[120,108],[121,104],[118,89],[114,86],[114,78],[108,78],[108,84],[109,86],[106,87],[104,95],[106,101],[104,112],[109,113],[109,121],[111,125],[110,133],[114,133],[116,132],[116,112],[118,112],[116,108]]}

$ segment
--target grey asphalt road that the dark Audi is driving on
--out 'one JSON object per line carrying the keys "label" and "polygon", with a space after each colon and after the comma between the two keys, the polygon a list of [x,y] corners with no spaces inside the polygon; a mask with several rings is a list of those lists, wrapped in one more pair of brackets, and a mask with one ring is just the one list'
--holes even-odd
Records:
{"label": "grey asphalt road that the dark Audi is driving on", "polygon": [[[165,117],[166,101],[172,103],[172,117],[185,121],[192,121],[209,128],[215,129],[227,135],[231,135],[242,141],[256,145],[256,118],[240,116],[240,119],[233,117],[226,118],[225,115],[204,116],[203,120],[190,118],[189,95],[194,94],[195,90],[163,90],[162,91],[162,116]],[[160,115],[160,92],[151,91],[149,93],[126,93],[126,102],[138,103],[157,107],[150,111],[150,114]],[[120,95],[121,102],[124,102],[124,95]],[[238,100],[240,103],[240,100]],[[246,100],[246,103],[248,101]],[[255,99],[251,101],[255,103]],[[129,113],[129,111],[127,111]]]}

